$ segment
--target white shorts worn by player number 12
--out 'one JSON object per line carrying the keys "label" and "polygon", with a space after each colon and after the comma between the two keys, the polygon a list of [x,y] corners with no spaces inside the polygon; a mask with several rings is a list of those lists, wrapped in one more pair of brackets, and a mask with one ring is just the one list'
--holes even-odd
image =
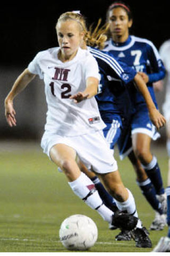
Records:
{"label": "white shorts worn by player number 12", "polygon": [[41,139],[41,147],[49,158],[50,149],[56,144],[65,144],[74,148],[85,166],[89,170],[92,168],[98,174],[106,174],[118,169],[113,150],[109,148],[102,130],[80,136],[60,136],[45,131]]}

